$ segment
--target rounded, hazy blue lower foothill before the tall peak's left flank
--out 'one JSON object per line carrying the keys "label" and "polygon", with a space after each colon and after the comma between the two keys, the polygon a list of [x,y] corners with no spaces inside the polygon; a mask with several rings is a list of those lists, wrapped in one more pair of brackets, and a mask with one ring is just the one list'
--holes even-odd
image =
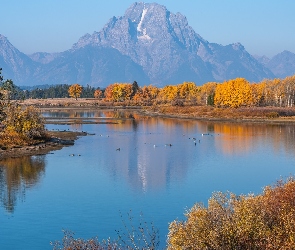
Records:
{"label": "rounded, hazy blue lower foothill before the tall peak's left flank", "polygon": [[40,84],[82,83],[106,87],[114,82],[148,83],[143,69],[116,49],[84,46],[61,53],[34,74]]}

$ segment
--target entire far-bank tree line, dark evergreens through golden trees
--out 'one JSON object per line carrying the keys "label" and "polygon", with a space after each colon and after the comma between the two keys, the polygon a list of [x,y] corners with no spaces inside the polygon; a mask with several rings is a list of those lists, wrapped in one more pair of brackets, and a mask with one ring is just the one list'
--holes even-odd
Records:
{"label": "entire far-bank tree line, dark evergreens through golden trees", "polygon": [[[76,89],[74,89],[74,87]],[[216,107],[275,106],[293,107],[295,104],[295,75],[284,79],[265,79],[250,83],[245,78],[236,78],[222,83],[208,82],[197,86],[194,82],[140,87],[133,83],[113,83],[105,89],[79,84],[60,84],[48,88],[21,90],[11,80],[2,82],[2,89],[9,90],[11,99],[47,98],[97,98],[106,102],[121,102],[127,105],[151,106],[157,104],[211,105]]]}

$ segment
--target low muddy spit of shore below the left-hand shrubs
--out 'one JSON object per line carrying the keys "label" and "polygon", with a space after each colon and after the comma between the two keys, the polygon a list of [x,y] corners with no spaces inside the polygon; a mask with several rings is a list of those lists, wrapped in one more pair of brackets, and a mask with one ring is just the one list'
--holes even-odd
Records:
{"label": "low muddy spit of shore below the left-hand shrubs", "polygon": [[86,132],[73,131],[49,131],[48,140],[35,145],[18,146],[8,149],[0,148],[0,160],[6,158],[17,158],[21,156],[44,155],[63,147],[72,146],[81,136],[86,136]]}

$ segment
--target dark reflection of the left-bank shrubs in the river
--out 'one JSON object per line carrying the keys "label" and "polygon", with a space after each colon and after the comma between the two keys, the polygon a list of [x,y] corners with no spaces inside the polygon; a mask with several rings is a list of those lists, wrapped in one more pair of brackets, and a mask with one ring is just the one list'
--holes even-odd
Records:
{"label": "dark reflection of the left-bank shrubs in the river", "polygon": [[40,182],[45,173],[45,156],[24,156],[0,160],[0,202],[13,213],[17,200],[24,200],[26,189]]}

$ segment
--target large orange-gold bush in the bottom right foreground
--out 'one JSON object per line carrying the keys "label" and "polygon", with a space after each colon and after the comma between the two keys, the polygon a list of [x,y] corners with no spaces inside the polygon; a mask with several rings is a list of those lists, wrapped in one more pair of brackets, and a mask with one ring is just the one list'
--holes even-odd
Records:
{"label": "large orange-gold bush in the bottom right foreground", "polygon": [[168,249],[295,249],[295,179],[261,195],[214,193],[169,225]]}

